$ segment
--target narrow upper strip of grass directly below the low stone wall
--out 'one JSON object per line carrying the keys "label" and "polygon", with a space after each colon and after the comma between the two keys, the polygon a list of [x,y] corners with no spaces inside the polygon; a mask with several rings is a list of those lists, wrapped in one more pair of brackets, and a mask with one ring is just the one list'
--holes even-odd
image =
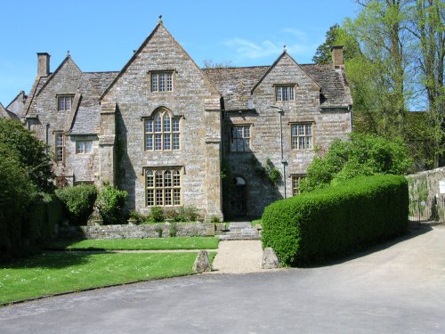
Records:
{"label": "narrow upper strip of grass directly below the low stone wall", "polygon": [[219,239],[213,237],[177,237],[115,240],[54,240],[44,246],[52,250],[167,250],[216,249]]}

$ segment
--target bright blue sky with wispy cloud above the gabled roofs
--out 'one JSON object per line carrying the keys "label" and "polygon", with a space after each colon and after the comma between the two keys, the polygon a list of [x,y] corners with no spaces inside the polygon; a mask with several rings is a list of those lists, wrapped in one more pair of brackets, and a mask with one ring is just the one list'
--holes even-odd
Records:
{"label": "bright blue sky with wispy cloud above the gabled roofs", "polygon": [[359,5],[352,0],[6,0],[0,30],[0,102],[7,106],[36,77],[36,53],[51,54],[51,70],[67,52],[84,71],[120,70],[163,15],[166,29],[202,66],[270,65],[287,45],[312,62],[326,31]]}

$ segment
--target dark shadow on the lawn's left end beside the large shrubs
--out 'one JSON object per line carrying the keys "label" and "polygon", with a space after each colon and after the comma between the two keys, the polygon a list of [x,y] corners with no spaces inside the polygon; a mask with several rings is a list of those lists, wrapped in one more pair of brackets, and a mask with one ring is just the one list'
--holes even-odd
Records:
{"label": "dark shadow on the lawn's left end beside the large shrubs", "polygon": [[72,265],[85,265],[89,261],[89,253],[82,252],[43,252],[31,257],[12,260],[0,265],[0,269],[48,268],[61,269]]}

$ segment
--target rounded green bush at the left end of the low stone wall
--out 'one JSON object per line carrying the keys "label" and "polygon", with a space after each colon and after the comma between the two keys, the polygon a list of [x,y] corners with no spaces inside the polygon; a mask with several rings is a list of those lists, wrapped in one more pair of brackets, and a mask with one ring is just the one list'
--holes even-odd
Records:
{"label": "rounded green bush at the left end of the low stone wall", "polygon": [[93,213],[94,202],[97,198],[96,187],[93,184],[79,184],[58,189],[55,192],[63,203],[69,223],[85,225],[88,217]]}

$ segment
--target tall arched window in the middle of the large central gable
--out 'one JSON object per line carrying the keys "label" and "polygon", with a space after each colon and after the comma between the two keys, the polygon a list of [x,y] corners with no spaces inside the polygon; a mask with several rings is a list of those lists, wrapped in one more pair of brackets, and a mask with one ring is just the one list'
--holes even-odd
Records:
{"label": "tall arched window in the middle of the large central gable", "polygon": [[167,110],[159,110],[145,119],[145,151],[176,151],[180,149],[180,119]]}

